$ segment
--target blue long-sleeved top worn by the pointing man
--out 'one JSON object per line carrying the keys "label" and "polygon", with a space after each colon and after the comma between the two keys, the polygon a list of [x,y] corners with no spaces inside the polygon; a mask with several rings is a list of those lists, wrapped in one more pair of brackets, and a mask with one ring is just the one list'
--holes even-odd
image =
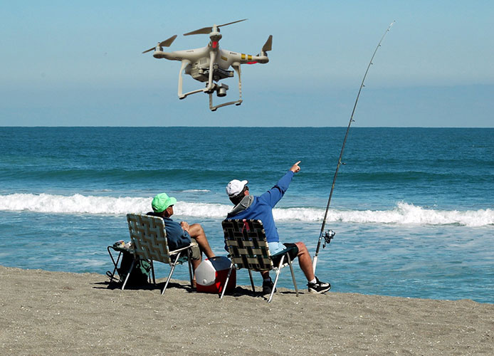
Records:
{"label": "blue long-sleeved top worn by the pointing man", "polygon": [[269,189],[261,197],[254,197],[253,202],[247,209],[237,214],[229,213],[226,219],[258,219],[263,221],[264,231],[266,231],[266,240],[268,242],[280,241],[278,229],[276,229],[273,219],[273,207],[283,198],[293,179],[293,172],[288,171],[281,177],[276,185]]}

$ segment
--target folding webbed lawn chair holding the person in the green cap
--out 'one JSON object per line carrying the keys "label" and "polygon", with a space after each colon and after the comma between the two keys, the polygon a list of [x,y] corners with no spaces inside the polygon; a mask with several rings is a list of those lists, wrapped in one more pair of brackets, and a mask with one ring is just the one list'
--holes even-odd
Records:
{"label": "folding webbed lawn chair holding the person in the green cap", "polygon": [[159,216],[127,214],[127,224],[129,226],[130,240],[132,241],[134,261],[132,261],[130,271],[127,273],[127,277],[122,285],[122,290],[127,284],[130,273],[132,273],[136,259],[144,258],[151,261],[152,279],[154,284],[156,284],[156,279],[154,278],[153,261],[169,264],[170,273],[162,290],[162,294],[164,294],[169,281],[172,279],[175,267],[180,263],[179,258],[182,256],[182,253],[186,253],[187,256],[189,277],[192,286],[191,248],[194,246],[194,243],[174,251],[169,251],[166,227],[164,225],[164,220]]}

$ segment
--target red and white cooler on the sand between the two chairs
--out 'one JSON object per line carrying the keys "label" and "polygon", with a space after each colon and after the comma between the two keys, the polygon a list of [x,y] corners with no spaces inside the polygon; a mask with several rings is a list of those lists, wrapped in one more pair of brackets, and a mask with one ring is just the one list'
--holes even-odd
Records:
{"label": "red and white cooler on the sand between the two chairs", "polygon": [[[231,261],[225,256],[206,258],[196,269],[197,291],[203,293],[221,293],[225,286],[228,269]],[[226,291],[229,292],[236,287],[236,269],[231,271]]]}

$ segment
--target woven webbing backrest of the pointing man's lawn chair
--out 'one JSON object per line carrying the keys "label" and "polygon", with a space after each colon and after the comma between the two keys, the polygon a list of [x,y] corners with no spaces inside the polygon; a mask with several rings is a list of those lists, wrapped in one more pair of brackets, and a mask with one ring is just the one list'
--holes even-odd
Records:
{"label": "woven webbing backrest of the pointing man's lawn chair", "polygon": [[273,269],[266,232],[261,220],[224,220],[225,244],[237,268],[252,271]]}

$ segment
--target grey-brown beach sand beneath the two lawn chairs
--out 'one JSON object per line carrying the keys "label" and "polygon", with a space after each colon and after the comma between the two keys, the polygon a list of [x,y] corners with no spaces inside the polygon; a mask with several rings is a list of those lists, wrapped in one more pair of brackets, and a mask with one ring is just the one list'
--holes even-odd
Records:
{"label": "grey-brown beach sand beneath the two lawn chairs", "polygon": [[159,282],[0,266],[0,354],[494,355],[494,304],[305,288],[266,303],[247,286],[220,300]]}

